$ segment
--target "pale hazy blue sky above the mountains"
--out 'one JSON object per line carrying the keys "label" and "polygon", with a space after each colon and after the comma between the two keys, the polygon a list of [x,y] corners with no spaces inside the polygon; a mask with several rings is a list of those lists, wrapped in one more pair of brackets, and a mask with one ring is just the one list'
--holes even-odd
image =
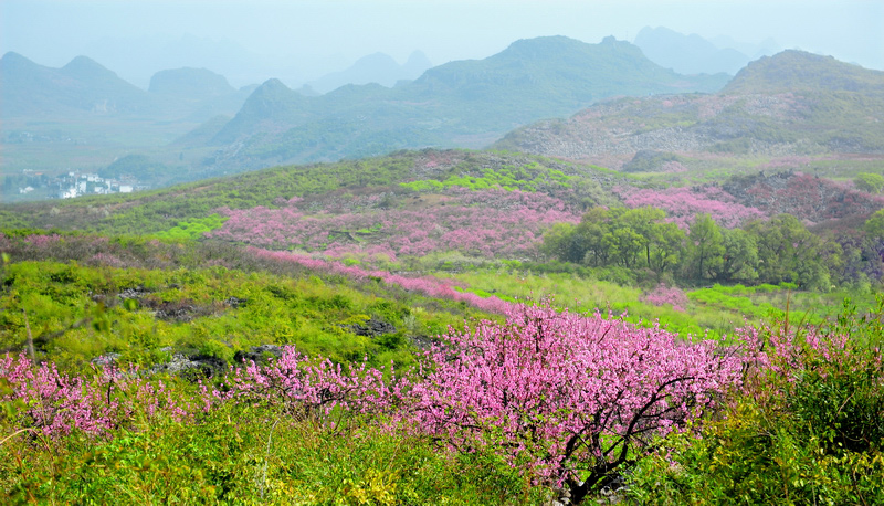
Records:
{"label": "pale hazy blue sky above the mountains", "polygon": [[86,55],[141,87],[179,66],[296,86],[376,52],[439,65],[543,35],[632,42],[644,27],[884,70],[884,0],[0,0],[0,53],[51,67]]}

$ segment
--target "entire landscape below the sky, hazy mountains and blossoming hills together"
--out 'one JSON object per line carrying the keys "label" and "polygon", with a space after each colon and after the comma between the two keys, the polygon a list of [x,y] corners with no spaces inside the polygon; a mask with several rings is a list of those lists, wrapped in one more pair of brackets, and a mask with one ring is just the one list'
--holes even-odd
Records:
{"label": "entire landscape below the sky, hazy mountains and blossoming hills together", "polygon": [[0,497],[884,500],[884,72],[0,63]]}

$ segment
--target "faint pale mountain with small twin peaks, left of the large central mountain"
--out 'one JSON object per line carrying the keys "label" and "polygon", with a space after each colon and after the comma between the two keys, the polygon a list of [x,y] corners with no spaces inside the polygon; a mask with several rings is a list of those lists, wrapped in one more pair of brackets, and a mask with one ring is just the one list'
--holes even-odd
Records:
{"label": "faint pale mountain with small twin peaks, left of the large central mountain", "polygon": [[415,51],[408,61],[400,65],[391,56],[375,53],[359,59],[349,68],[327,74],[316,81],[311,81],[307,86],[318,93],[328,93],[347,84],[377,83],[381,86],[392,87],[399,81],[413,81],[432,64],[420,51]]}

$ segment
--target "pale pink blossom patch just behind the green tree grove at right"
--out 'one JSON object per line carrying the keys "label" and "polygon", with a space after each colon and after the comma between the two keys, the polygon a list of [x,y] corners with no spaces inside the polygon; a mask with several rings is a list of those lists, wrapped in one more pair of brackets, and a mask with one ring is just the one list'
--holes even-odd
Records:
{"label": "pale pink blossom patch just behind the green tree grove at right", "polygon": [[650,205],[666,211],[666,220],[676,223],[682,230],[688,230],[694,217],[704,212],[727,229],[765,217],[758,209],[738,203],[730,193],[713,186],[664,190],[618,187],[614,191],[629,208]]}

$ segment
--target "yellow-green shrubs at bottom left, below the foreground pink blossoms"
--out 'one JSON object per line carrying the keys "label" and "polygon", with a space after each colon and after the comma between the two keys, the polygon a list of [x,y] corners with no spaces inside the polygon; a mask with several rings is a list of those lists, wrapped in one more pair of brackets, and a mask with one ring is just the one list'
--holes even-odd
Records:
{"label": "yellow-green shrubs at bottom left, below the foreground pink blossoms", "polygon": [[457,455],[359,418],[323,425],[266,405],[199,423],[155,421],[110,441],[69,438],[0,446],[0,497],[45,504],[539,504],[503,461]]}

